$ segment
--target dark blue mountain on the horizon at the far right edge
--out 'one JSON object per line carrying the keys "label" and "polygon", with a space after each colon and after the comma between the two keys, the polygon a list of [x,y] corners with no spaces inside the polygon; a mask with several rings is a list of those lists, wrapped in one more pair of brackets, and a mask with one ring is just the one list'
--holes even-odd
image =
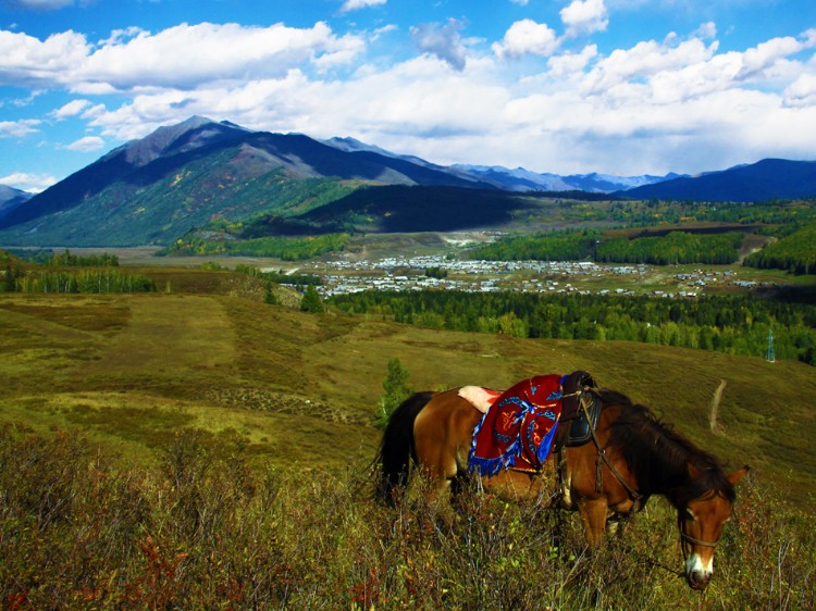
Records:
{"label": "dark blue mountain on the horizon at the far right edge", "polygon": [[633,199],[767,201],[816,197],[816,161],[764,159],[721,172],[680,177],[629,189]]}

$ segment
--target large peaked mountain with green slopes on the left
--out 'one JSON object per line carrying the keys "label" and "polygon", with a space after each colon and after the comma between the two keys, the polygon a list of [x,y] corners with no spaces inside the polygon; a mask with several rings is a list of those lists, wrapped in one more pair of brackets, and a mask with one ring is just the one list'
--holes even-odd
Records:
{"label": "large peaked mountain with green slopes on the left", "polygon": [[[374,150],[342,150],[300,134],[251,132],[194,116],[127,142],[0,219],[9,245],[168,244],[213,219],[302,207],[326,184],[479,187]],[[350,183],[350,185],[349,185]]]}

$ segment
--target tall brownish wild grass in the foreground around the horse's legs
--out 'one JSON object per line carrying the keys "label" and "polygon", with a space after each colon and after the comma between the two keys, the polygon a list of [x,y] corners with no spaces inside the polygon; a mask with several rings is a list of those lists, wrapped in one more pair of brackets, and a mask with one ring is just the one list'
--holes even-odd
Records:
{"label": "tall brownish wild grass in the foreground around the horse's legs", "polygon": [[[82,436],[0,431],[5,609],[806,609],[806,516],[740,490],[704,594],[678,576],[668,508],[585,552],[574,516],[466,490],[452,525],[371,500],[361,475],[250,469],[183,431],[136,471]],[[420,495],[418,498],[422,498]]]}

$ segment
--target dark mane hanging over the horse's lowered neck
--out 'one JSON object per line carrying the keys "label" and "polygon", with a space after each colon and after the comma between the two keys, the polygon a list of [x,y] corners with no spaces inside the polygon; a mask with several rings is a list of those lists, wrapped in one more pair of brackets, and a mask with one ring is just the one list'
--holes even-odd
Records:
{"label": "dark mane hanging over the horse's lowered neck", "polygon": [[[700,449],[647,407],[633,403],[626,395],[609,389],[602,389],[598,395],[604,406],[622,408],[611,423],[608,444],[622,456],[640,492],[665,495],[678,508],[717,494],[733,502],[733,486],[714,454]],[[690,465],[697,472],[693,477]]]}

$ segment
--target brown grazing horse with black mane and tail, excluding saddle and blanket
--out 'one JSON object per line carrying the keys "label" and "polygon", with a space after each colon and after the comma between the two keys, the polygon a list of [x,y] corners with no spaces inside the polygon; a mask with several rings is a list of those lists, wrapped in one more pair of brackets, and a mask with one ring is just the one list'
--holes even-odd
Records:
{"label": "brown grazing horse with black mane and tail, excluding saddle and blanket", "polygon": [[[651,411],[608,389],[583,389],[584,406],[599,400],[592,440],[565,447],[560,456],[561,506],[578,510],[590,546],[602,540],[607,520],[641,509],[663,495],[677,509],[685,578],[703,589],[714,571],[714,550],[732,513],[734,486],[747,471],[726,474],[719,461],[657,421]],[[379,452],[379,494],[386,502],[408,482],[410,464],[430,478],[435,500],[469,474],[471,440],[482,419],[458,389],[418,392],[392,414]],[[568,426],[562,427],[567,433]],[[559,440],[560,439],[560,440]],[[553,452],[554,454],[556,452]],[[543,465],[542,465],[543,466]],[[545,492],[542,471],[514,467],[480,476],[485,489],[516,498]]]}

